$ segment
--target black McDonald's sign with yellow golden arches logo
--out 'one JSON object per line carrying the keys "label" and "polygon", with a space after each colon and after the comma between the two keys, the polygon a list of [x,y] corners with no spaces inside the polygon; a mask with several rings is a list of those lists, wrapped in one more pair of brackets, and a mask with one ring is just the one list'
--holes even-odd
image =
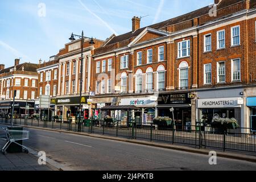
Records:
{"label": "black McDonald's sign with yellow golden arches logo", "polygon": [[[81,97],[81,104],[87,104],[88,97]],[[51,104],[56,105],[79,105],[80,97],[52,98]]]}

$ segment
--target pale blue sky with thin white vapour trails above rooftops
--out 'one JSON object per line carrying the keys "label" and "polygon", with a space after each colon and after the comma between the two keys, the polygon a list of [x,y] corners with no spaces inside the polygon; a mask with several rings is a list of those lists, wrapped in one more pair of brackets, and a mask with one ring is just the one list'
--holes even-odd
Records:
{"label": "pale blue sky with thin white vapour trails above rooftops", "polygon": [[[70,34],[105,40],[131,31],[133,16],[146,16],[141,27],[208,6],[213,0],[0,0],[0,64],[49,60]],[[46,5],[44,11],[39,5]],[[44,14],[43,14],[44,15]]]}

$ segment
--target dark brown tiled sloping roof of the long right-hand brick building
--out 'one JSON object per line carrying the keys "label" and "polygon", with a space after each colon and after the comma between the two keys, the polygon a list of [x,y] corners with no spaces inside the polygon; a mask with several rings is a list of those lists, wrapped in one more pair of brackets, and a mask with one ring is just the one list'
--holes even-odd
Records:
{"label": "dark brown tiled sloping roof of the long right-hand brick building", "polygon": [[[222,0],[218,5],[217,5],[217,9],[222,9],[226,6],[229,6],[229,5],[233,5],[234,3],[238,3],[238,2],[242,2],[244,0]],[[256,6],[256,0],[251,0],[250,1],[250,7],[254,7]],[[181,16],[177,16],[175,18],[171,18],[171,19],[168,19],[164,22],[160,22],[160,23],[156,23],[156,24],[152,24],[151,26],[148,26],[150,28],[154,28],[154,29],[160,29],[160,28],[163,28],[163,27],[167,27],[167,26],[170,26],[172,24],[177,24],[177,23],[181,23],[181,22],[185,22],[187,20],[191,20],[191,19],[194,19],[194,18],[198,18],[200,16],[203,16],[203,15],[206,15],[209,13],[209,10],[211,9],[212,7],[209,7],[209,6],[205,6],[201,9],[198,9],[198,10],[195,10],[195,11],[192,11],[190,13],[187,13],[187,14],[184,14],[184,15],[181,15]],[[140,28],[138,29],[137,31],[135,32],[128,32],[126,34],[122,34],[122,35],[119,35],[119,36],[115,36],[114,38],[112,38],[108,43],[106,43],[105,46],[108,46],[110,44],[114,44],[114,43],[118,43],[118,42],[122,42],[124,40],[129,40],[131,38],[134,38],[136,36],[138,36],[139,34],[141,34],[141,32],[145,29],[146,27],[143,27],[143,28]]]}

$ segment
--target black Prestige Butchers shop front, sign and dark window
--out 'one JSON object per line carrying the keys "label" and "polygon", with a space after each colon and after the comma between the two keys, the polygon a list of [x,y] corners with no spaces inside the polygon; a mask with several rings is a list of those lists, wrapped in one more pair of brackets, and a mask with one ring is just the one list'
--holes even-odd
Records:
{"label": "black Prestige Butchers shop front, sign and dark window", "polygon": [[175,93],[175,94],[159,94],[158,97],[158,117],[169,117],[173,119],[171,108],[174,108],[174,121],[177,129],[184,129],[185,126],[191,125],[192,107],[191,99],[195,94],[191,93]]}

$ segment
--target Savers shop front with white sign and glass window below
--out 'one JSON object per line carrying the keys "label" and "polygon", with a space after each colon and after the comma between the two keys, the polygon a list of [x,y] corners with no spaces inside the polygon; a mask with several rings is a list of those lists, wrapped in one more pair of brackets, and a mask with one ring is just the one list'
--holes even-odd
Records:
{"label": "Savers shop front with white sign and glass window below", "polygon": [[156,97],[122,98],[120,105],[136,106],[140,108],[141,110],[135,111],[135,121],[137,122],[137,125],[150,125],[155,118],[156,100]]}

